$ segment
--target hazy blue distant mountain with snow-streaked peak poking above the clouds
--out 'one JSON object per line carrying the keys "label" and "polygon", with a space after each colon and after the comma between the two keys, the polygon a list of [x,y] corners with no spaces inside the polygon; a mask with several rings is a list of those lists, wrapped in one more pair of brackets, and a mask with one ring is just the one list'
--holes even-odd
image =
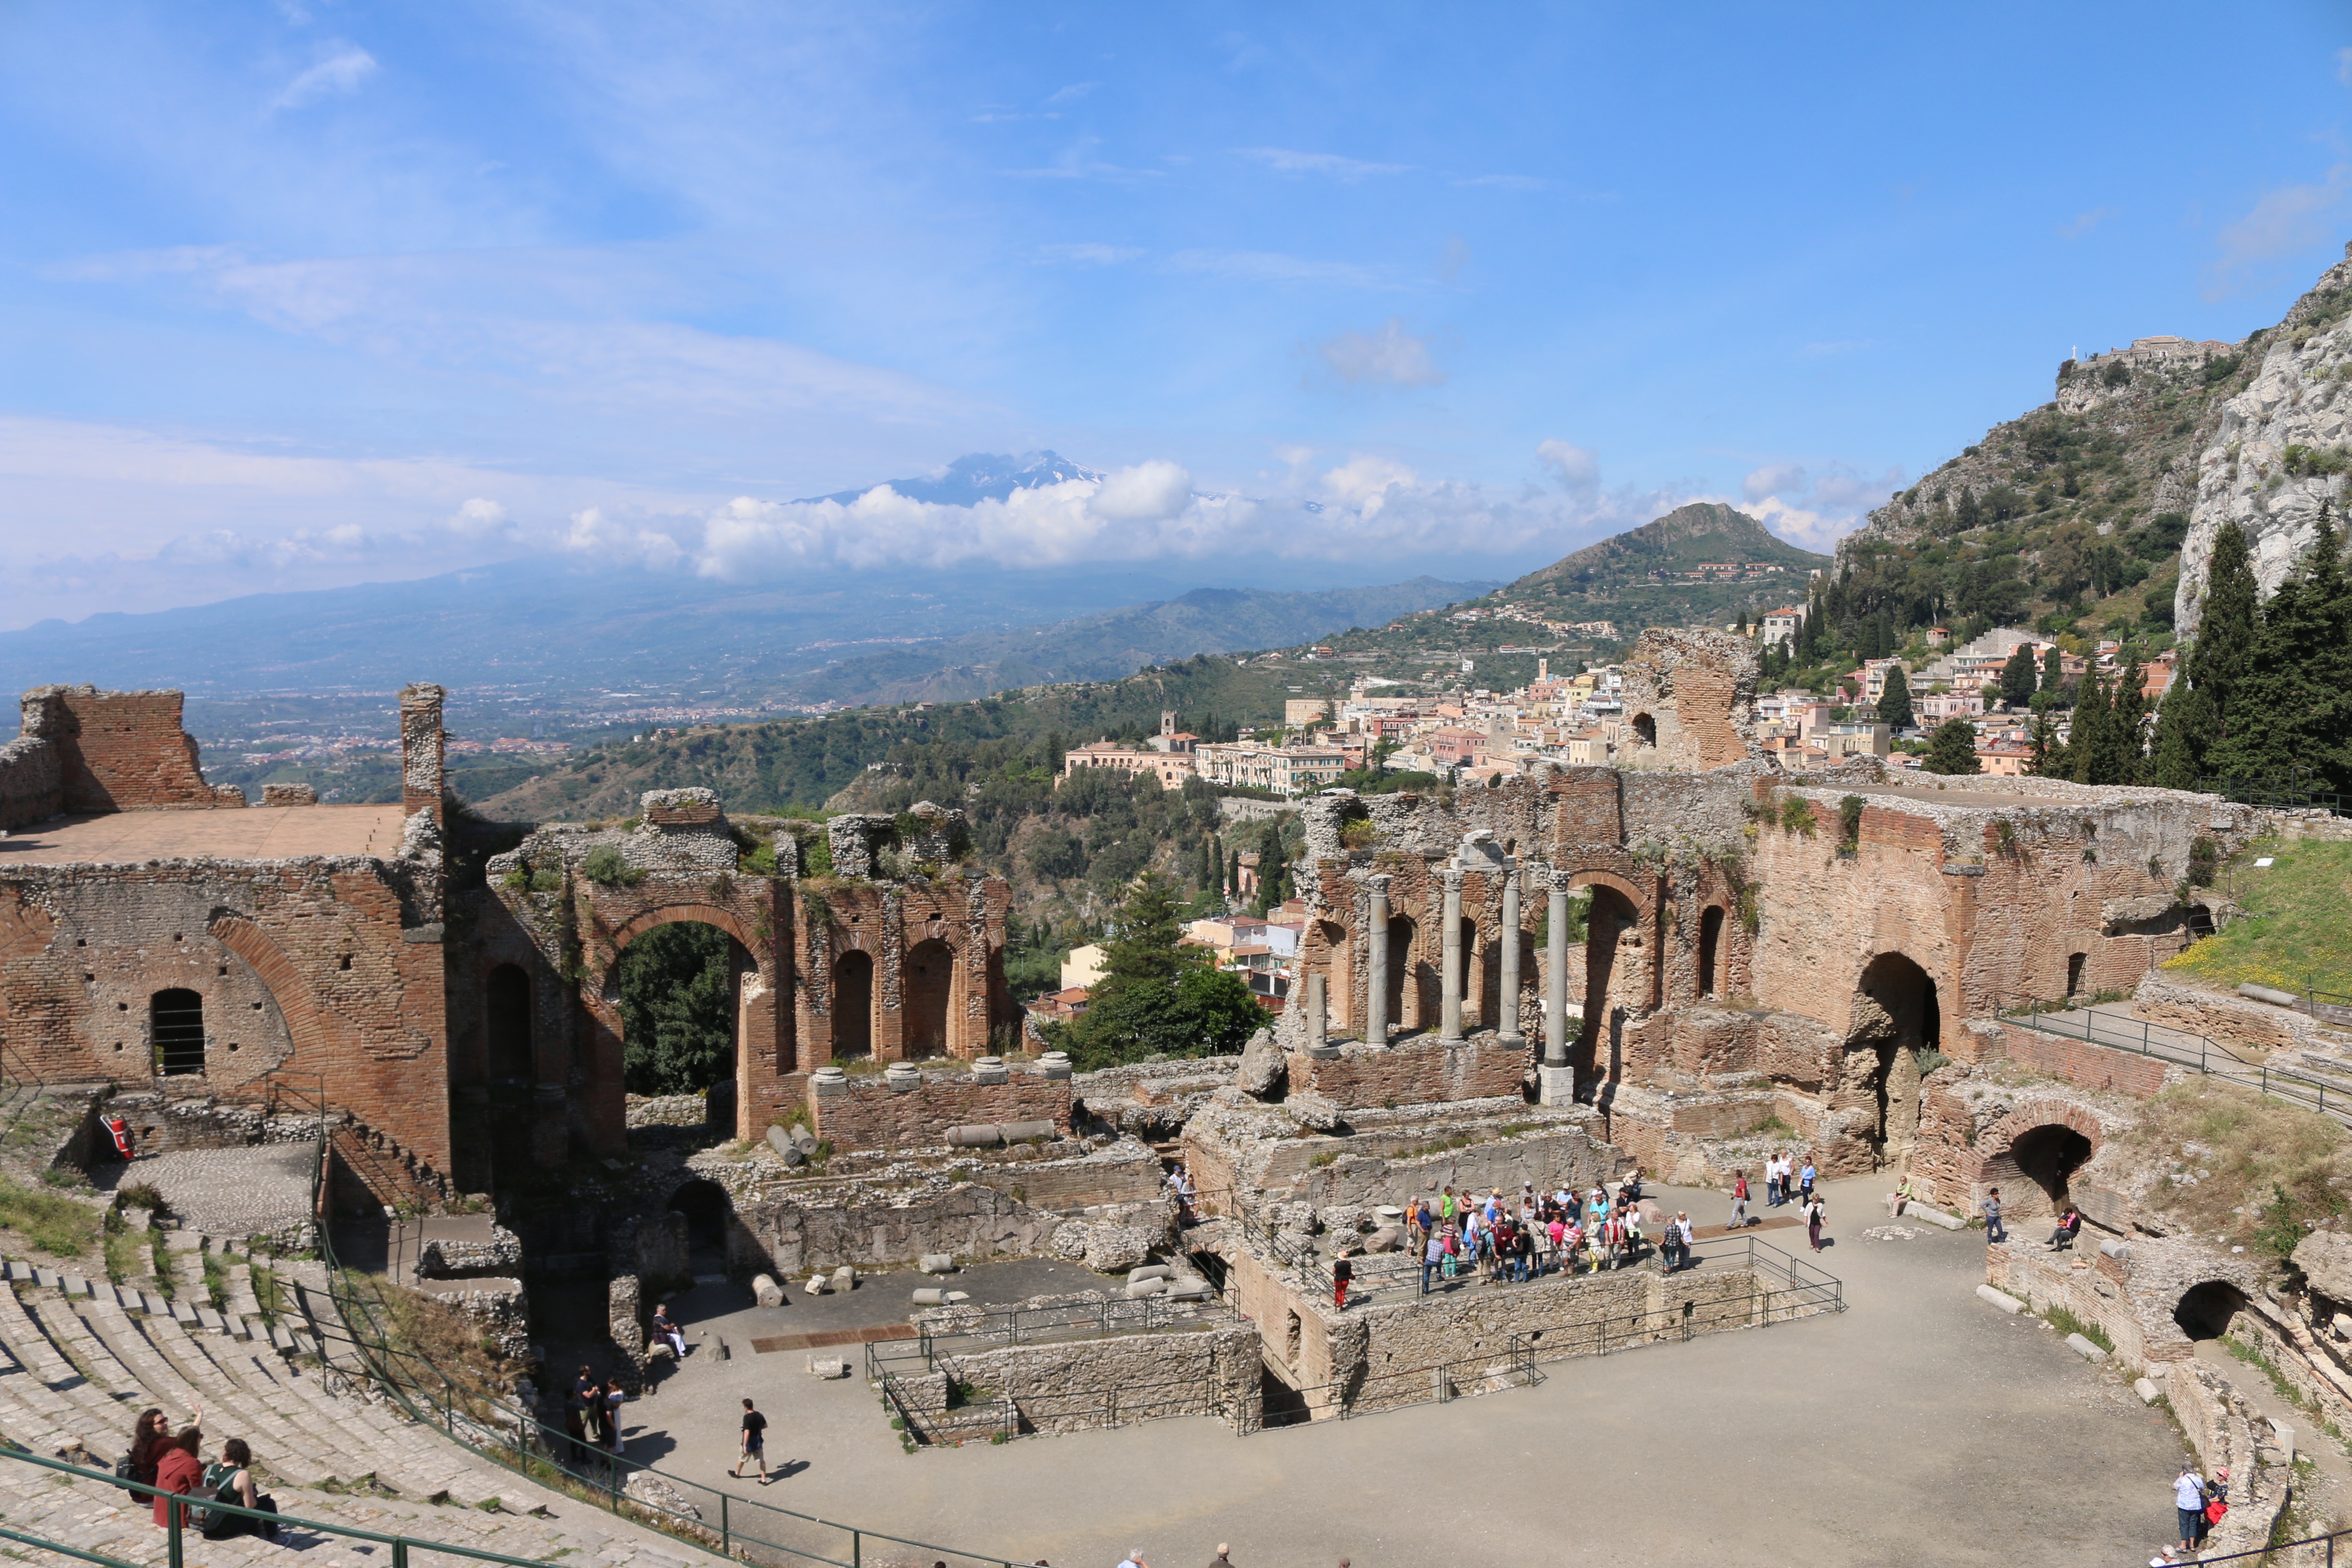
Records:
{"label": "hazy blue distant mountain with snow-streaked peak poking above the clouds", "polygon": [[[917,501],[974,505],[1098,477],[1035,451],[974,454],[889,484]],[[1232,562],[1221,567],[1235,571]],[[1145,663],[1312,639],[1491,585],[1423,576],[1388,588],[1263,592],[1200,588],[1202,576],[1197,564],[1148,562],[722,583],[522,559],[407,583],[42,621],[0,632],[0,691],[45,682],[176,686],[200,712],[205,701],[254,693],[381,696],[435,679],[466,701],[527,703],[567,729],[612,708],[612,693],[637,708],[802,708],[1117,679]]]}

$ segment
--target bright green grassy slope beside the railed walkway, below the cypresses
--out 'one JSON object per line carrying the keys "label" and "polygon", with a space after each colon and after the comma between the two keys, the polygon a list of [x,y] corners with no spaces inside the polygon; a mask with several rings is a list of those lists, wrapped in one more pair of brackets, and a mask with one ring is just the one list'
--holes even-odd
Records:
{"label": "bright green grassy slope beside the railed walkway, below the cypresses", "polygon": [[[2274,865],[2256,867],[2270,856]],[[2352,844],[2258,839],[2230,863],[2230,889],[2251,919],[2166,959],[2164,971],[2209,985],[2272,985],[2352,994]]]}

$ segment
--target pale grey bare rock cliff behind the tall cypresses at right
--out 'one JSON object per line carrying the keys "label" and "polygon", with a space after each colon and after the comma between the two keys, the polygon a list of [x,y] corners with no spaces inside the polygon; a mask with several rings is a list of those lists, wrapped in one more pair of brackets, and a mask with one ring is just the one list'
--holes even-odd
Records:
{"label": "pale grey bare rock cliff behind the tall cypresses at right", "polygon": [[2312,548],[2319,503],[2343,505],[2352,468],[2352,244],[2286,320],[2246,339],[2260,355],[2246,390],[2220,404],[2197,458],[2197,503],[2180,543],[2176,625],[2204,609],[2206,567],[2220,524],[2237,522],[2253,548],[2253,576],[2277,592]]}

